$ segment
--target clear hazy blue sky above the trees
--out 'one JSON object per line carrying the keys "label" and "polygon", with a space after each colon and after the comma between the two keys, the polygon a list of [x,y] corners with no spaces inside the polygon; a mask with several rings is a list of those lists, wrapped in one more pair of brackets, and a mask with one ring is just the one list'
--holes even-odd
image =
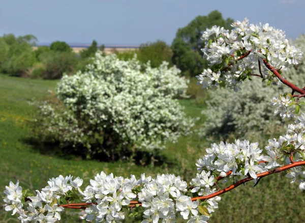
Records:
{"label": "clear hazy blue sky above the trees", "polygon": [[0,0],[0,35],[35,35],[39,42],[171,44],[179,27],[219,10],[224,18],[268,22],[287,38],[305,33],[305,0]]}

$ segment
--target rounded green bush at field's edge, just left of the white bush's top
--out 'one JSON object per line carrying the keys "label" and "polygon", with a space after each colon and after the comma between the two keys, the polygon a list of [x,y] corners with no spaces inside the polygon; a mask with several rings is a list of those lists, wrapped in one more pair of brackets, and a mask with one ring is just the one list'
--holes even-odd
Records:
{"label": "rounded green bush at field's edge, just left of the white bush's top", "polygon": [[44,79],[59,79],[64,73],[71,74],[77,66],[77,58],[73,52],[44,52],[40,59],[45,70],[43,72]]}

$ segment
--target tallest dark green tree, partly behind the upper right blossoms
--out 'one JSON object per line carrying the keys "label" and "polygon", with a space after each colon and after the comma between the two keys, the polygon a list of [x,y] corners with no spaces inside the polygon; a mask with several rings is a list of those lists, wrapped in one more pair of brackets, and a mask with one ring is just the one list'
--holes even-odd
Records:
{"label": "tallest dark green tree, partly behind the upper right blossoms", "polygon": [[173,64],[185,75],[195,76],[201,73],[206,67],[206,60],[202,59],[200,50],[204,45],[201,40],[202,33],[213,25],[231,30],[230,24],[232,22],[233,19],[227,18],[225,20],[222,14],[215,10],[208,16],[197,16],[187,26],[178,29],[171,46]]}

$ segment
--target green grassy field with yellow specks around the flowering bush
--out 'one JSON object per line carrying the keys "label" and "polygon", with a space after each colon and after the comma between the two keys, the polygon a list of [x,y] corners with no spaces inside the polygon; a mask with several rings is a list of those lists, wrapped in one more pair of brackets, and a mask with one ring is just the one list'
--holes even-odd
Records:
{"label": "green grassy field with yellow specks around the flowering bush", "polygon": [[[28,102],[33,98],[43,99],[48,90],[54,90],[56,81],[33,80],[0,75],[0,193],[3,195],[9,181],[20,181],[30,189],[40,189],[50,177],[59,174],[79,176],[84,185],[95,174],[104,171],[117,176],[141,173],[155,176],[158,173],[172,173],[190,180],[196,173],[195,162],[204,154],[207,142],[199,140],[196,133],[181,136],[175,144],[168,144],[162,154],[168,163],[162,166],[135,165],[132,162],[98,162],[79,159],[63,159],[49,153],[40,153],[37,146],[28,142],[28,122],[35,117],[35,109]],[[180,100],[186,106],[186,113],[200,117],[202,105],[196,100]],[[204,121],[200,117],[199,124]],[[198,125],[199,125],[198,124]],[[232,192],[223,194],[220,208],[210,222],[304,222],[305,196],[298,184],[290,184],[285,174],[264,178],[253,187],[250,182]],[[223,187],[225,185],[219,184]],[[0,222],[11,217],[2,208],[0,201]],[[68,218],[64,218],[68,221]],[[77,218],[69,217],[71,222]],[[14,221],[11,219],[10,221]],[[129,220],[132,222],[132,220]],[[180,221],[179,221],[180,222]]]}

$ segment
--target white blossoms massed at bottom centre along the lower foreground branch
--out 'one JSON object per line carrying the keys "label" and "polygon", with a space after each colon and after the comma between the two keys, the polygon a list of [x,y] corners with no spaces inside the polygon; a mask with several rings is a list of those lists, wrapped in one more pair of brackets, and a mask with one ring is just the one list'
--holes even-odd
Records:
{"label": "white blossoms massed at bottom centre along the lower foreground branch", "polygon": [[[123,208],[128,208],[131,200],[137,197],[144,207],[143,223],[145,222],[175,222],[175,213],[180,212],[184,219],[193,222],[196,219],[205,222],[208,216],[199,213],[198,201],[192,201],[186,196],[187,182],[174,175],[158,175],[156,179],[141,175],[136,179],[106,176],[104,172],[98,174],[95,180],[84,191],[80,190],[83,201],[92,204],[82,213],[81,218],[88,221],[119,222],[124,219]],[[217,201],[210,202],[210,206],[217,208]],[[208,212],[214,209],[208,208]],[[207,213],[208,214],[208,213]]]}

